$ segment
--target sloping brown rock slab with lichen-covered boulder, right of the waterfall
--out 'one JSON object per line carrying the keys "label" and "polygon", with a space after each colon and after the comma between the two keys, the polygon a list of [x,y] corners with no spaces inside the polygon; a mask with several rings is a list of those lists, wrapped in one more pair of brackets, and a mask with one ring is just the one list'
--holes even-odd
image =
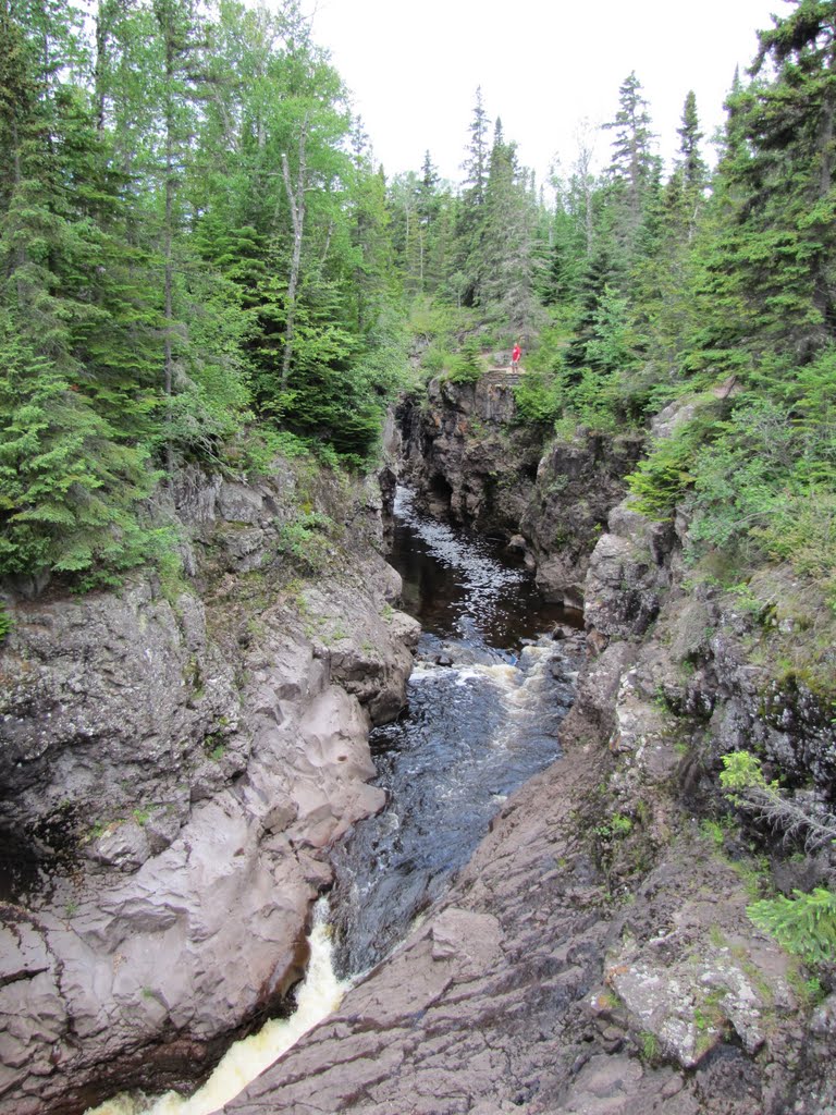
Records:
{"label": "sloping brown rock slab with lichen-covered boulder, right of the waterfall", "polygon": [[[615,759],[571,717],[568,754],[503,808],[451,894],[230,1115],[787,1109],[787,958],[740,935],[746,895],[694,825],[653,852],[674,817],[661,798],[633,844],[655,866],[619,901],[594,804]],[[648,801],[668,746],[642,766]]]}

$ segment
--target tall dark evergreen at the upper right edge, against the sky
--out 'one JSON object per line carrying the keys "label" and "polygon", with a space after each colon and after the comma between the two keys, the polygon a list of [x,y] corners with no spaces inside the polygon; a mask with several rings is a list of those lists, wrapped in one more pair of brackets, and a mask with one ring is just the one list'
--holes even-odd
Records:
{"label": "tall dark evergreen at the upper right edge, against the sky", "polygon": [[738,284],[750,348],[804,361],[836,339],[836,3],[801,0],[759,43],[751,85],[729,101],[713,281]]}

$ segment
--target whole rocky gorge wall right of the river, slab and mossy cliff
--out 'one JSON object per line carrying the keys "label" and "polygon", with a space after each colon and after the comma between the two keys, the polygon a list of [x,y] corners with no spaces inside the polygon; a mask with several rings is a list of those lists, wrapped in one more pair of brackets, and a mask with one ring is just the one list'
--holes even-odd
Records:
{"label": "whole rocky gorge wall right of the river, slab and mossy cliff", "polygon": [[[460,415],[454,398],[421,426],[449,439]],[[445,458],[463,459],[469,429]],[[429,485],[428,505],[444,481],[457,514],[460,473],[410,475]],[[808,806],[827,801],[832,724],[765,652],[791,623],[779,614],[765,629],[739,594],[689,583],[686,533],[682,520],[611,506],[584,556],[590,659],[564,756],[502,807],[404,946],[231,1115],[836,1109],[836,995],[826,978],[811,995],[809,973],[746,913],[770,846],[785,890],[832,879],[833,854],[788,862],[768,833],[752,843],[717,785],[719,756],[757,743],[795,770]]]}

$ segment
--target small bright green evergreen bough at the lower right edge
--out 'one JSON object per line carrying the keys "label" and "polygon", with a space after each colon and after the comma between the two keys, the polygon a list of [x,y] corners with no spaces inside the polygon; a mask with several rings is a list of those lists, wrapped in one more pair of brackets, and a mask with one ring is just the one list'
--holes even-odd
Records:
{"label": "small bright green evergreen bough at the lower right edge", "polygon": [[836,894],[817,886],[809,894],[793,891],[746,908],[758,927],[771,933],[788,952],[807,963],[832,963],[836,957]]}

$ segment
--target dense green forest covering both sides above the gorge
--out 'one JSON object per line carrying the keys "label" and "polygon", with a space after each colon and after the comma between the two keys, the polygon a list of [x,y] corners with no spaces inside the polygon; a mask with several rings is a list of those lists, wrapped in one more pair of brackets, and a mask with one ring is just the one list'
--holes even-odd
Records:
{"label": "dense green forest covering both sides above the gorge", "polygon": [[630,72],[605,168],[544,184],[476,90],[450,184],[376,164],[295,0],[0,0],[0,575],[176,563],[184,464],[373,468],[399,392],[522,339],[544,443],[687,403],[636,507],[836,608],[835,65],[794,0],[712,171],[692,94],[665,169]]}

